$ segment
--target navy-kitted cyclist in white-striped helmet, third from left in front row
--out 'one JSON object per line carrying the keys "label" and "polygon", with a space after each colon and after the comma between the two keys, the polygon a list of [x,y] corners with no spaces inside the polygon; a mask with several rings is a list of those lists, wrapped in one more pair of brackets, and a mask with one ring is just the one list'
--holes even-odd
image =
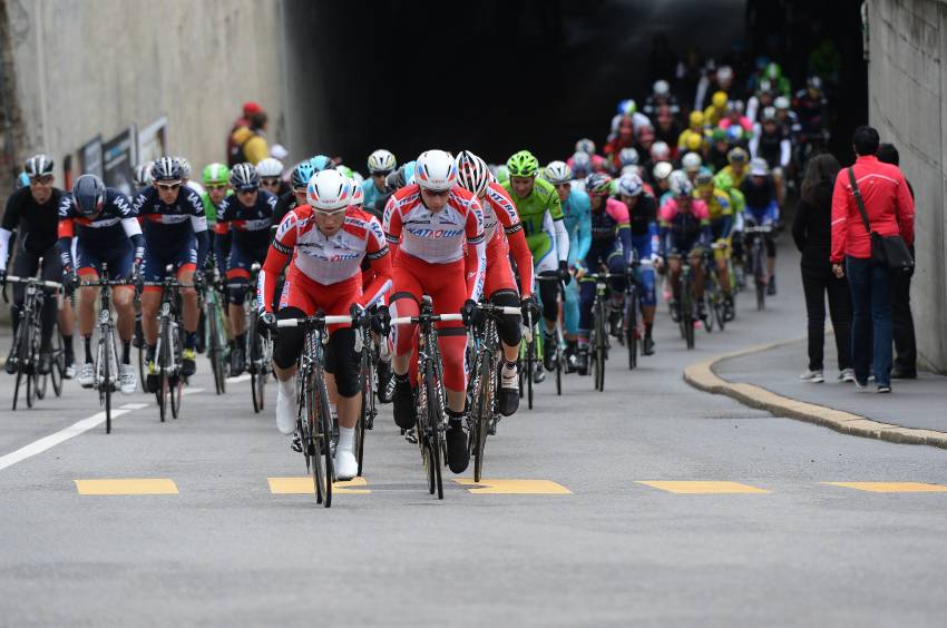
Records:
{"label": "navy-kitted cyclist in white-striped helmet, third from left in front row", "polygon": [[[204,204],[196,192],[184,185],[180,164],[170,157],[162,157],[155,161],[152,179],[153,185],[139,192],[133,202],[145,234],[141,279],[149,283],[160,282],[165,277],[165,266],[172,265],[179,282],[194,283],[195,271],[204,267],[209,249]],[[185,331],[180,374],[187,377],[193,375],[196,369],[197,292],[192,287],[182,288],[180,298]],[[147,392],[155,392],[157,386],[155,347],[160,302],[162,287],[145,286],[141,293],[141,327],[148,345],[148,373],[145,382]]]}

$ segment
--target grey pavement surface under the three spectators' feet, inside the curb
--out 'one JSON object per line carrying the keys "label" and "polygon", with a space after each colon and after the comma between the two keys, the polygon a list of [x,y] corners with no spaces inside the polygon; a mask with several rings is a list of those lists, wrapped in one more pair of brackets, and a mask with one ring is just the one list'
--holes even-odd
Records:
{"label": "grey pavement surface under the three spectators' feet, inside the curb", "polygon": [[[827,340],[833,351],[832,337]],[[730,382],[755,384],[783,396],[845,410],[882,423],[947,432],[947,377],[919,373],[917,380],[895,380],[890,395],[876,394],[870,382],[865,391],[857,392],[855,384],[837,380],[838,364],[834,357],[828,359],[828,353],[827,379],[821,384],[799,379],[807,363],[804,341],[722,360],[713,371]]]}

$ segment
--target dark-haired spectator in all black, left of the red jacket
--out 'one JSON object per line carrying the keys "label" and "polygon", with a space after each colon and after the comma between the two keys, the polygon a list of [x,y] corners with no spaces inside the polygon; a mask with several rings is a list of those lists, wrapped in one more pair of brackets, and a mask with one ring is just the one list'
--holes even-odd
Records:
{"label": "dark-haired spectator in all black, left of the red jacket", "polygon": [[832,274],[829,253],[832,246],[832,187],[841,166],[830,154],[809,160],[806,178],[792,223],[792,239],[802,253],[802,291],[809,318],[809,371],[800,375],[807,382],[826,381],[822,363],[826,341],[826,295],[836,334],[839,380],[855,381],[851,369],[851,294],[845,277]]}

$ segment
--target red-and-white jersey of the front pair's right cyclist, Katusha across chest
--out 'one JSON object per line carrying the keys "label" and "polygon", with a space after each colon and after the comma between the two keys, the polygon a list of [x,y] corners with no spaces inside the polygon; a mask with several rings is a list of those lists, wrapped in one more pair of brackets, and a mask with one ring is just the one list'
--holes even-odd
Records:
{"label": "red-and-white jersey of the front pair's right cyclist, Katusha across chest", "polygon": [[455,186],[447,207],[435,214],[421,203],[421,188],[413,184],[388,199],[384,233],[407,255],[429,264],[457,262],[465,255],[465,243],[476,247],[485,242],[484,210],[472,194]]}

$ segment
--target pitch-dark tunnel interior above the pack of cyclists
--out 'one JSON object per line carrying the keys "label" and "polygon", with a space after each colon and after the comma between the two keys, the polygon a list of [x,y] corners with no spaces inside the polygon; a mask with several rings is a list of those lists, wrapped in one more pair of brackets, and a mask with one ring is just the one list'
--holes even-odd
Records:
{"label": "pitch-dark tunnel interior above the pack of cyclists", "polygon": [[[670,78],[674,58],[714,57],[750,71],[768,53],[795,86],[804,84],[809,50],[824,37],[842,53],[841,88],[829,97],[836,140],[847,138],[867,121],[858,7],[855,0],[290,0],[291,149],[342,156],[362,169],[379,147],[399,160],[427,148],[468,148],[494,163],[530,148],[546,163],[565,158],[579,137],[602,146],[617,101],[641,105],[654,80]],[[671,56],[653,51],[662,37]]]}

